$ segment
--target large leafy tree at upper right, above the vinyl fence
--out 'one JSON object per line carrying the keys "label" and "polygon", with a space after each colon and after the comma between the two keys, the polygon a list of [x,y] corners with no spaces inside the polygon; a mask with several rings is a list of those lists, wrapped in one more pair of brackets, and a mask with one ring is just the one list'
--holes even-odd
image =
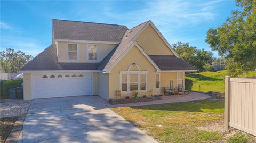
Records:
{"label": "large leafy tree at upper right, above the vinyl fence", "polygon": [[236,0],[242,11],[232,11],[222,26],[209,29],[206,42],[225,58],[231,76],[256,69],[256,0]]}

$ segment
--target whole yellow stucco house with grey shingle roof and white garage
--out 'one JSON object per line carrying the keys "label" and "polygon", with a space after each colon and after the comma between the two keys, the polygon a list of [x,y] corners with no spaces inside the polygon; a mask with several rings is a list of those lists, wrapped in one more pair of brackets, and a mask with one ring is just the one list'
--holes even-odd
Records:
{"label": "whole yellow stucco house with grey shingle roof and white garage", "polygon": [[147,21],[126,26],[53,20],[52,45],[25,65],[24,99],[99,95],[116,99],[138,91],[162,94],[163,87],[185,86],[183,61]]}

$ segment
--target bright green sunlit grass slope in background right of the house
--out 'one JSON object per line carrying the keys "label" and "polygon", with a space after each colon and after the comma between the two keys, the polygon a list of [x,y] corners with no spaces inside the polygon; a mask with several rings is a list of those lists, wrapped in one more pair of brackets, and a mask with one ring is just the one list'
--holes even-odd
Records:
{"label": "bright green sunlit grass slope in background right of the house", "polygon": [[[208,92],[208,91],[218,91],[224,92],[225,81],[224,78],[227,75],[227,70],[217,71],[217,72],[201,72],[195,74],[187,74],[186,78],[193,80],[192,91],[197,92]],[[251,75],[256,75],[256,71],[249,72],[248,77]],[[239,77],[243,77],[240,75]]]}

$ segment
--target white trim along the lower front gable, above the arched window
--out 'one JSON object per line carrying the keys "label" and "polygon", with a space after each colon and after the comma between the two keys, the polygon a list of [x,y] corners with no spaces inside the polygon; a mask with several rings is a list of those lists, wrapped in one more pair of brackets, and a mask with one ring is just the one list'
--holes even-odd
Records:
{"label": "white trim along the lower front gable, above the arched window", "polygon": [[124,51],[124,53],[119,56],[117,58],[117,60],[106,70],[106,71],[103,71],[105,73],[110,73],[111,72],[111,69],[114,68],[114,66],[130,51],[130,49],[133,47],[133,46],[136,46],[140,52],[148,59],[148,61],[156,68],[156,71],[159,72],[161,71],[158,66],[154,63],[153,60],[151,60],[151,58],[148,56],[148,54],[141,48],[141,46],[136,42],[136,41],[133,41],[133,43],[131,43],[131,45]]}

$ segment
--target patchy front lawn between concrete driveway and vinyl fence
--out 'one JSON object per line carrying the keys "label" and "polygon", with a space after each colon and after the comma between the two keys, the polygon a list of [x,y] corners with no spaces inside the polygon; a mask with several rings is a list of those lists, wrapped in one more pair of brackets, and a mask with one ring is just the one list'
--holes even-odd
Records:
{"label": "patchy front lawn between concrete driveway and vinyl fence", "polygon": [[222,134],[197,127],[223,120],[223,106],[222,100],[207,99],[112,110],[159,142],[218,142]]}

